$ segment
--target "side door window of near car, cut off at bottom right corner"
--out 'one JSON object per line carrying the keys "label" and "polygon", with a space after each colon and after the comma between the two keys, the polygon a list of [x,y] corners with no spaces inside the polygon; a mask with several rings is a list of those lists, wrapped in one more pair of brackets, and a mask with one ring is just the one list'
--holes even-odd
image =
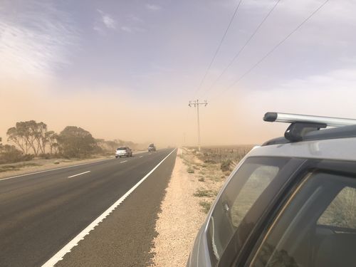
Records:
{"label": "side door window of near car, cut off at bottom right corner", "polygon": [[355,266],[355,192],[355,177],[308,174],[271,224],[250,266]]}

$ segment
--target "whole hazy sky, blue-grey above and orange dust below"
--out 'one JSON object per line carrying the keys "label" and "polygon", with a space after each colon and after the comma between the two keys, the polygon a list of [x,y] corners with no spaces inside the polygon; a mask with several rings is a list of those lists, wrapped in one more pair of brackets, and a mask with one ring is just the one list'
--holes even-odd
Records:
{"label": "whole hazy sky, blue-grey above and orange dust below", "polygon": [[0,137],[36,120],[197,145],[196,99],[202,145],[283,135],[268,111],[356,118],[355,1],[242,0],[231,21],[239,2],[1,0]]}

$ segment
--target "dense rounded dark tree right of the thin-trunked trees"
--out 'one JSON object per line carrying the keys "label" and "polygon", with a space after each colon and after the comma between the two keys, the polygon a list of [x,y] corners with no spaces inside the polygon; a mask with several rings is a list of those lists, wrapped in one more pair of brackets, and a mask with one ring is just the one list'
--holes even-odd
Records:
{"label": "dense rounded dark tree right of the thin-trunked trees", "polygon": [[90,132],[76,126],[67,126],[58,135],[58,145],[65,157],[88,157],[98,147]]}

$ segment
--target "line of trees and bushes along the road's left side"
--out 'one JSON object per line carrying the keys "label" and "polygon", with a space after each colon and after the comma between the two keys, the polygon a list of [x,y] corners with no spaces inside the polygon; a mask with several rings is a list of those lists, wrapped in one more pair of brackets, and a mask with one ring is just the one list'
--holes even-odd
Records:
{"label": "line of trees and bushes along the road's left side", "polygon": [[48,130],[46,123],[35,120],[16,122],[6,135],[11,145],[2,145],[0,137],[0,164],[33,157],[85,158],[93,154],[112,154],[122,145],[136,146],[122,140],[95,139],[90,132],[77,126],[67,126],[58,134]]}

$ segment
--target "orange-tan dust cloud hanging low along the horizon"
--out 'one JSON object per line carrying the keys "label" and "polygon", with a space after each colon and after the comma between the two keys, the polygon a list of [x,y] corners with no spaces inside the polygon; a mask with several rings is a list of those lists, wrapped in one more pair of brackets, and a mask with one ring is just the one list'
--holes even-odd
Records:
{"label": "orange-tan dust cloud hanging low along the horizon", "polygon": [[[109,93],[110,92],[110,93]],[[125,93],[124,93],[125,92]],[[68,125],[83,127],[95,138],[155,142],[159,147],[197,144],[197,113],[181,99],[133,98],[130,91],[58,90],[29,81],[0,83],[0,137],[16,122],[36,120],[61,132]],[[202,145],[263,142],[262,114],[244,117],[246,105],[224,100],[200,108]],[[251,123],[253,122],[253,123]]]}

